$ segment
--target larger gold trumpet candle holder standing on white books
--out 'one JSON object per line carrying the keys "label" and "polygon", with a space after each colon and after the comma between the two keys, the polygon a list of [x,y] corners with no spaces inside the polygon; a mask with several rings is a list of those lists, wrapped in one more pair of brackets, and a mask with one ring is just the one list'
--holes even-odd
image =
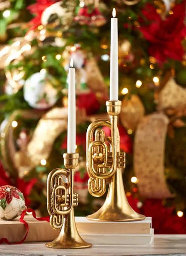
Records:
{"label": "larger gold trumpet candle holder standing on white books", "polygon": [[[101,208],[86,218],[92,221],[128,222],[145,218],[136,213],[125,195],[122,170],[125,168],[125,152],[120,152],[118,132],[118,115],[121,112],[121,101],[107,101],[107,113],[110,121],[95,120],[87,130],[87,170],[89,174],[88,189],[92,196],[102,196],[106,192],[106,181],[109,182],[106,200]],[[101,127],[111,130],[111,137],[106,137]]]}

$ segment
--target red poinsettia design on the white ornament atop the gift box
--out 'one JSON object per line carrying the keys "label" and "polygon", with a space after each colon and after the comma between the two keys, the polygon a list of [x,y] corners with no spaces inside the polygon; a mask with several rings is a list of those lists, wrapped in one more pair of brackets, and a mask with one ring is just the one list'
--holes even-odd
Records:
{"label": "red poinsettia design on the white ornament atop the gift box", "polygon": [[5,185],[0,187],[0,200],[6,199],[7,204],[9,204],[13,197],[20,199],[21,191],[13,186]]}

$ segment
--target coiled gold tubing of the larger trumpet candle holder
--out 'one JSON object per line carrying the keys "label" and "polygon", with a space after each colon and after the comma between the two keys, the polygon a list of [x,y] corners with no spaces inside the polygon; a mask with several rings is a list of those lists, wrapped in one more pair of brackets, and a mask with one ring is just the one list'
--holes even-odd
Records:
{"label": "coiled gold tubing of the larger trumpet candle holder", "polygon": [[[107,137],[100,127],[110,128],[111,136],[116,134],[116,139]],[[113,128],[114,127],[114,128]],[[111,122],[105,119],[94,121],[87,130],[87,170],[89,174],[88,189],[92,196],[103,196],[106,192],[106,180],[110,179],[117,169],[117,152],[119,132],[117,118]],[[123,155],[120,155],[120,162]]]}

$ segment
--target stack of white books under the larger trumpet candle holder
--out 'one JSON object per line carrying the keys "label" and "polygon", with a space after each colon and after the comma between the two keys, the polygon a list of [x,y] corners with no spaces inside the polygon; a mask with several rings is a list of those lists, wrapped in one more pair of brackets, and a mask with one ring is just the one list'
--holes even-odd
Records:
{"label": "stack of white books under the larger trumpet candle holder", "polygon": [[153,242],[151,217],[135,222],[95,222],[76,217],[76,226],[82,238],[94,245],[151,245]]}

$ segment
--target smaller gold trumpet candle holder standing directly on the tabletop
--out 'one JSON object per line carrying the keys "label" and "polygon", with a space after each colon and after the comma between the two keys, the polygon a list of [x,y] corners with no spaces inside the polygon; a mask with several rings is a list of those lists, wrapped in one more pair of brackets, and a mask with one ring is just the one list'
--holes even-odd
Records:
{"label": "smaller gold trumpet candle holder standing directly on the tabletop", "polygon": [[55,169],[47,180],[47,209],[51,215],[50,224],[61,229],[59,236],[46,244],[50,248],[86,248],[91,243],[83,240],[76,228],[74,206],[78,204],[78,195],[73,193],[74,171],[78,165],[79,154],[63,154],[66,169]]}

